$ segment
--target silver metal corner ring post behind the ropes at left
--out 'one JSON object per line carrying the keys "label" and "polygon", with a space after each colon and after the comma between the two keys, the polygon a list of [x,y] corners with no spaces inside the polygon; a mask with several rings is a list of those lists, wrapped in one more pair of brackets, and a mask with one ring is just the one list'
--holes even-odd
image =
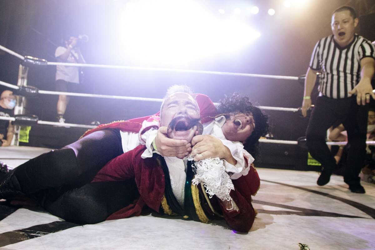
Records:
{"label": "silver metal corner ring post behind the ropes at left", "polygon": [[[17,86],[24,87],[27,86],[27,73],[28,67],[20,64],[18,68],[18,80]],[[14,115],[23,115],[25,114],[26,107],[26,98],[24,96],[17,96],[17,103],[14,107]],[[20,126],[15,125],[15,141],[14,145],[20,145]]]}

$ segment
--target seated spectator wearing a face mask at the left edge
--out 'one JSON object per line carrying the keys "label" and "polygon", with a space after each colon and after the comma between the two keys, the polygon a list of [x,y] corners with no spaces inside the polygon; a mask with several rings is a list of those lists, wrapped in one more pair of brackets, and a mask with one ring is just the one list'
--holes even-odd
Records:
{"label": "seated spectator wearing a face mask at the left edge", "polygon": [[[10,90],[4,90],[0,96],[0,116],[12,117],[16,98]],[[0,120],[0,146],[9,146],[14,135],[14,126],[8,120]]]}

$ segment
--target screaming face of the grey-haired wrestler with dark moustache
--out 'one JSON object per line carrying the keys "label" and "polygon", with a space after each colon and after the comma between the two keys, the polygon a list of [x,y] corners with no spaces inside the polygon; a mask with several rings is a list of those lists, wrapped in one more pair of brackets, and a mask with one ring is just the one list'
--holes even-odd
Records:
{"label": "screaming face of the grey-haired wrestler with dark moustache", "polygon": [[198,128],[196,125],[189,126],[189,120],[199,119],[200,115],[194,98],[187,93],[178,92],[165,99],[160,117],[159,126],[165,127],[175,119],[174,126],[168,130],[169,138],[190,142]]}

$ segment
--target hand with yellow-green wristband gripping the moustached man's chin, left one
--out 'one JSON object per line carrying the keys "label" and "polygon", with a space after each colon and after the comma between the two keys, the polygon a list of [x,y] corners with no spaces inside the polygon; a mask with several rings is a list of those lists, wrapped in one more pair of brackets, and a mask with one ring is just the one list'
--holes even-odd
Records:
{"label": "hand with yellow-green wristband gripping the moustached man's chin, left one", "polygon": [[186,140],[171,139],[166,136],[168,128],[160,127],[157,130],[155,143],[157,151],[162,156],[176,156],[183,159],[191,151],[191,144]]}

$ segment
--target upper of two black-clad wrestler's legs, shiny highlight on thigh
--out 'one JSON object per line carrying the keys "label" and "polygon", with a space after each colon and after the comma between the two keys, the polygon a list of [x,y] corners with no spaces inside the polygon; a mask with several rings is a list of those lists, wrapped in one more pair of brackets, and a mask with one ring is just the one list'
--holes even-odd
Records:
{"label": "upper of two black-clad wrestler's legs, shiny highlight on thigh", "polygon": [[89,183],[105,163],[122,153],[118,130],[99,130],[18,166],[8,174],[12,179],[8,183],[15,183],[13,186],[19,186],[18,191],[26,195],[67,183],[81,186]]}

